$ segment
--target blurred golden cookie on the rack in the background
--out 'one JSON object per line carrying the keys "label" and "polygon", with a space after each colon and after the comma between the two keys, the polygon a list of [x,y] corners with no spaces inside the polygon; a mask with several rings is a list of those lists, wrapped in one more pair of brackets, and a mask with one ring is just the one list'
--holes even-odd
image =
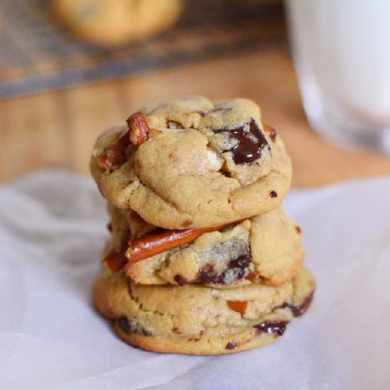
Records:
{"label": "blurred golden cookie on the rack in the background", "polygon": [[145,38],[171,26],[181,0],[52,0],[55,17],[70,33],[113,46]]}

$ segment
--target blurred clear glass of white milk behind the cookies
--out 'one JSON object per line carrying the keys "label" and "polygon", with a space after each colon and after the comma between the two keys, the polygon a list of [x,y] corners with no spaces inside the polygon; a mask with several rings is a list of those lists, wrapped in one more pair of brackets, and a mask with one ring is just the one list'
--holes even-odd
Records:
{"label": "blurred clear glass of white milk behind the cookies", "polygon": [[286,0],[303,106],[337,144],[390,153],[390,0]]}

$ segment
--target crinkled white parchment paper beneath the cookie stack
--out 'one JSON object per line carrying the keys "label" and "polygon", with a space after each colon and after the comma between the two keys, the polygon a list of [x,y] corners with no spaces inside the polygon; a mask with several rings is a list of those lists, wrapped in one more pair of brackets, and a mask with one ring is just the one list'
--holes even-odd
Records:
{"label": "crinkled white parchment paper beneath the cookie stack", "polygon": [[318,282],[272,345],[160,355],[91,307],[108,236],[91,179],[38,172],[0,187],[0,389],[390,389],[390,177],[291,191]]}

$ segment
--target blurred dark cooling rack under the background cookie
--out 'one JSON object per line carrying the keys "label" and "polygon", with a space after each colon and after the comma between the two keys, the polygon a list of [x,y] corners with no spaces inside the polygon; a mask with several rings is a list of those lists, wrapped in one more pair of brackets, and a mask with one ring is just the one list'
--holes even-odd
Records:
{"label": "blurred dark cooling rack under the background cookie", "polygon": [[188,0],[173,28],[107,50],[69,36],[48,0],[1,0],[0,98],[285,45],[279,1]]}

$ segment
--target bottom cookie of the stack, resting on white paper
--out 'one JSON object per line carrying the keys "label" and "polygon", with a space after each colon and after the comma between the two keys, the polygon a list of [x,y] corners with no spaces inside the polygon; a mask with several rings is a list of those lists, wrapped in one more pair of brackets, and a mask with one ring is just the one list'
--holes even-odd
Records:
{"label": "bottom cookie of the stack, resting on white paper", "polygon": [[219,290],[201,285],[143,286],[104,270],[94,285],[99,312],[118,335],[155,352],[219,355],[277,340],[311,303],[315,282],[303,269],[281,286]]}

